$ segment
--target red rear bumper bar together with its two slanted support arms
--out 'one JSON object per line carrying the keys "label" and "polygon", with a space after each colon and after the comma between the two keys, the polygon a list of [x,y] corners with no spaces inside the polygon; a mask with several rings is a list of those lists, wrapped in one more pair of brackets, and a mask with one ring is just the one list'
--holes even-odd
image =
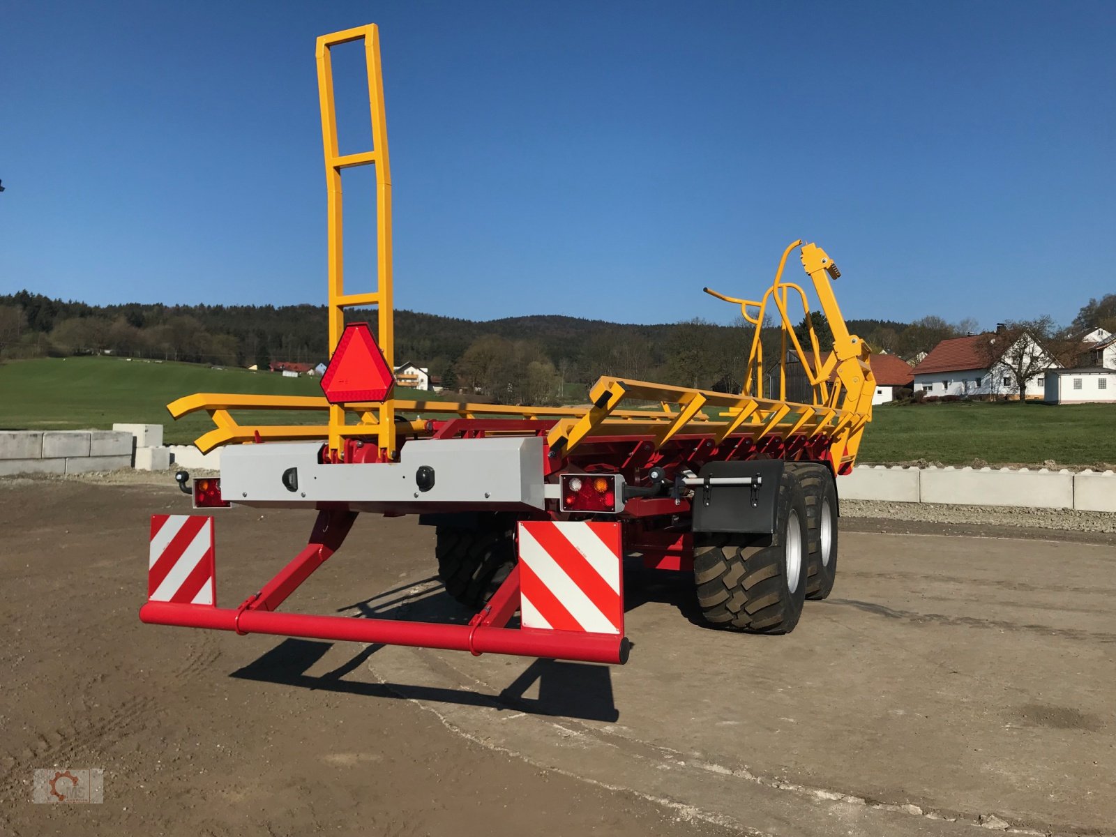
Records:
{"label": "red rear bumper bar together with its two slanted support arms", "polygon": [[310,542],[263,588],[238,608],[174,602],[147,602],[140,619],[155,625],[410,645],[472,654],[517,654],[586,663],[627,662],[629,643],[619,634],[504,627],[519,608],[519,573],[513,570],[468,625],[442,625],[383,618],[275,613],[283,599],[320,567],[348,535],[355,512],[324,510]]}

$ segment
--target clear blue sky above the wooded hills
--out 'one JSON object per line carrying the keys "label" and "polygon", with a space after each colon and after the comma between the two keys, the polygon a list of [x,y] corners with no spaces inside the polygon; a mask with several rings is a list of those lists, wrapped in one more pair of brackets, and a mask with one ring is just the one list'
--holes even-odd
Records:
{"label": "clear blue sky above the wooded hills", "polygon": [[[366,22],[400,308],[728,321],[702,286],[761,292],[799,237],[849,317],[1116,290],[1116,3],[0,0],[0,292],[323,302],[315,38]],[[335,71],[356,150],[358,51]]]}

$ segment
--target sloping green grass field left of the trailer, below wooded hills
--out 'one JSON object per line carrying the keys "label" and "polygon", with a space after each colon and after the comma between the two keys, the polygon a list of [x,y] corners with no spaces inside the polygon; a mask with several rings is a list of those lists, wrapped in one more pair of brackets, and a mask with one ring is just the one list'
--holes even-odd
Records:
{"label": "sloping green grass field left of the trailer, below wooded hills", "polygon": [[[321,395],[318,378],[286,378],[271,372],[118,357],[13,360],[0,365],[0,429],[107,430],[114,422],[162,424],[167,444],[186,444],[212,430],[213,422],[204,413],[174,421],[166,405],[183,395],[206,392]],[[396,393],[415,401],[433,395],[402,387]],[[244,413],[237,419],[248,423]],[[317,424],[325,421],[325,413],[269,411],[259,421]]]}

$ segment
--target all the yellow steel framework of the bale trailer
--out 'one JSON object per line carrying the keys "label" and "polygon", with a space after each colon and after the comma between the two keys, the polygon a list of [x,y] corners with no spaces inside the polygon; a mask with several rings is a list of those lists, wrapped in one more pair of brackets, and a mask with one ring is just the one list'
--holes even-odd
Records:
{"label": "all the yellow steel framework of the bale trailer", "polygon": [[[337,142],[337,118],[334,102],[330,49],[339,44],[363,40],[368,76],[368,102],[372,116],[373,150],[341,155]],[[392,327],[392,182],[387,157],[387,129],[384,117],[384,88],[379,66],[379,33],[375,26],[347,29],[318,38],[318,93],[321,105],[321,137],[325,150],[328,185],[328,264],[329,264],[329,350],[336,350],[345,327],[345,309],[353,306],[376,306],[377,338],[388,365],[394,368]],[[348,294],[344,280],[341,171],[357,165],[373,165],[376,171],[376,242],[377,288],[372,292]],[[834,350],[822,357],[812,323],[809,304],[801,286],[782,280],[787,259],[801,249],[802,267],[810,277],[821,310],[834,335]],[[551,450],[569,452],[586,439],[607,435],[643,435],[655,446],[662,446],[679,435],[702,436],[721,444],[730,436],[787,439],[796,434],[824,439],[830,446],[834,464],[840,469],[856,458],[864,426],[872,420],[872,395],[875,379],[868,366],[868,347],[848,333],[845,319],[833,292],[831,279],[840,276],[833,260],[816,244],[792,242],[782,253],[771,288],[758,301],[727,297],[706,288],[719,299],[740,305],[744,319],[754,327],[748,357],[744,387],[740,395],[705,389],[665,386],[642,381],[600,378],[590,391],[591,406],[584,407],[511,407],[493,404],[458,402],[416,402],[388,398],[384,402],[329,404],[324,397],[276,395],[227,395],[199,393],[167,405],[179,419],[205,411],[214,430],[195,442],[202,452],[219,445],[254,441],[327,440],[333,451],[341,452],[345,437],[375,439],[388,458],[396,452],[396,436],[429,435],[426,421],[405,419],[397,412],[422,413],[437,417],[506,416],[552,422],[547,437]],[[790,316],[791,295],[797,294],[809,325],[809,345],[804,346],[795,334]],[[763,348],[760,329],[768,305],[778,311],[781,326],[779,359],[779,393],[763,392]],[[754,310],[753,310],[754,309]],[[787,401],[786,364],[789,350],[798,356],[812,387],[810,404]],[[657,408],[627,408],[627,400],[657,402]],[[629,404],[629,406],[633,406]],[[718,410],[711,417],[705,411]],[[248,424],[237,422],[232,411],[320,411],[327,414],[325,425]],[[346,419],[355,414],[357,422]],[[509,431],[522,432],[522,431]]]}

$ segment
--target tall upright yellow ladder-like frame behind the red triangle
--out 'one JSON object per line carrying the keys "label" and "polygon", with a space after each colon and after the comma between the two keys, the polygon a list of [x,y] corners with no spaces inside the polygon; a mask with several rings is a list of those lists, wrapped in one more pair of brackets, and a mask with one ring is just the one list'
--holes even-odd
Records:
{"label": "tall upright yellow ladder-like frame behind the red triangle", "polygon": [[[341,154],[337,142],[337,110],[334,100],[334,70],[330,50],[352,41],[364,41],[365,67],[368,75],[368,109],[372,116],[372,151]],[[318,38],[318,100],[321,107],[321,145],[326,155],[328,189],[329,250],[329,354],[345,329],[345,309],[354,306],[376,306],[376,339],[387,365],[395,369],[392,306],[392,173],[387,156],[387,119],[384,114],[384,79],[379,68],[379,30],[375,25],[346,29]],[[341,171],[359,165],[376,170],[376,275],[377,287],[372,292],[345,292],[344,200]],[[338,451],[344,436],[375,436],[387,456],[395,454],[395,404],[391,398],[360,411],[358,425],[346,424],[341,405],[329,407],[329,448]]]}

